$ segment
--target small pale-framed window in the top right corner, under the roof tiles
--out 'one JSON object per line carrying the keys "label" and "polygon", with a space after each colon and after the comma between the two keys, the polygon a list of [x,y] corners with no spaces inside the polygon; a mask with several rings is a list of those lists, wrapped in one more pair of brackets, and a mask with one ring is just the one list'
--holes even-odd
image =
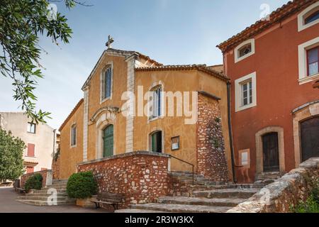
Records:
{"label": "small pale-framed window in the top right corner, under the roof tiles", "polygon": [[319,23],[319,1],[298,14],[298,31],[303,31],[317,23]]}

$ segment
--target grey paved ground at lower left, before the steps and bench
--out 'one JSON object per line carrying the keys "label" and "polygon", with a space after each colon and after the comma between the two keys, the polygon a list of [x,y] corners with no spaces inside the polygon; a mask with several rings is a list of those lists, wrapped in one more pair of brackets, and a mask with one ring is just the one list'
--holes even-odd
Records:
{"label": "grey paved ground at lower left, before the steps and bench", "polygon": [[0,187],[0,213],[108,213],[106,209],[79,206],[33,206],[16,201],[19,194],[12,187]]}

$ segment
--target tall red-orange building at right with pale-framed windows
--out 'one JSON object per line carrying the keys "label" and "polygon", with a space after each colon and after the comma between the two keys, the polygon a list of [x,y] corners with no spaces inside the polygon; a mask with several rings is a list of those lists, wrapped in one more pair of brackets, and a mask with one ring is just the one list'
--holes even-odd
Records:
{"label": "tall red-orange building at right with pale-framed windows", "polygon": [[239,182],[319,156],[318,12],[318,0],[292,1],[218,45],[231,83]]}

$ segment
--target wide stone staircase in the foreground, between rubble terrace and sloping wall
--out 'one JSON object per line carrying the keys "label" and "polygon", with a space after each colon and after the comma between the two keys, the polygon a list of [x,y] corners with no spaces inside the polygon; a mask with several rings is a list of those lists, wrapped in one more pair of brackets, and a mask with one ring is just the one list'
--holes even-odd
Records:
{"label": "wide stone staircase in the foreground, between rubble terrace and sloping wall", "polygon": [[172,196],[161,196],[155,203],[131,204],[129,209],[120,209],[116,213],[225,213],[265,186],[265,184],[211,182],[201,175],[194,177],[195,183],[192,185],[189,173],[174,175],[186,183],[184,186],[187,191]]}

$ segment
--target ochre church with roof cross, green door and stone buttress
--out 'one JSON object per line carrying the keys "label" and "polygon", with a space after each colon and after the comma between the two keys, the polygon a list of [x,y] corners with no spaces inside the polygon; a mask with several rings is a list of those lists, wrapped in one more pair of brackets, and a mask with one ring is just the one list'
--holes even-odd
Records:
{"label": "ochre church with roof cross, green door and stone buttress", "polygon": [[169,172],[232,179],[228,78],[222,67],[162,65],[140,52],[104,50],[83,99],[60,127],[60,179],[78,165],[147,151],[168,155]]}

